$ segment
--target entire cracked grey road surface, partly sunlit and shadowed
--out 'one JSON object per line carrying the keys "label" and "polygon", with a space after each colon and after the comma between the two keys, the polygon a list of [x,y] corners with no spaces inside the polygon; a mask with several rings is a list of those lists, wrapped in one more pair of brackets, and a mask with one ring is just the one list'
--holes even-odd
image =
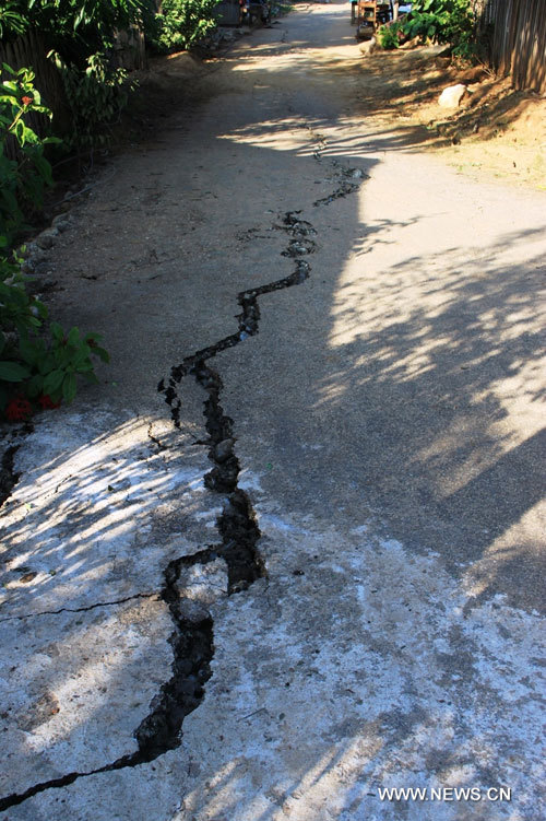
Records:
{"label": "entire cracked grey road surface, partly sunlit and shadowed", "polygon": [[538,821],[545,197],[359,115],[346,4],[166,66],[47,262],[112,365],[14,441],[0,819]]}

